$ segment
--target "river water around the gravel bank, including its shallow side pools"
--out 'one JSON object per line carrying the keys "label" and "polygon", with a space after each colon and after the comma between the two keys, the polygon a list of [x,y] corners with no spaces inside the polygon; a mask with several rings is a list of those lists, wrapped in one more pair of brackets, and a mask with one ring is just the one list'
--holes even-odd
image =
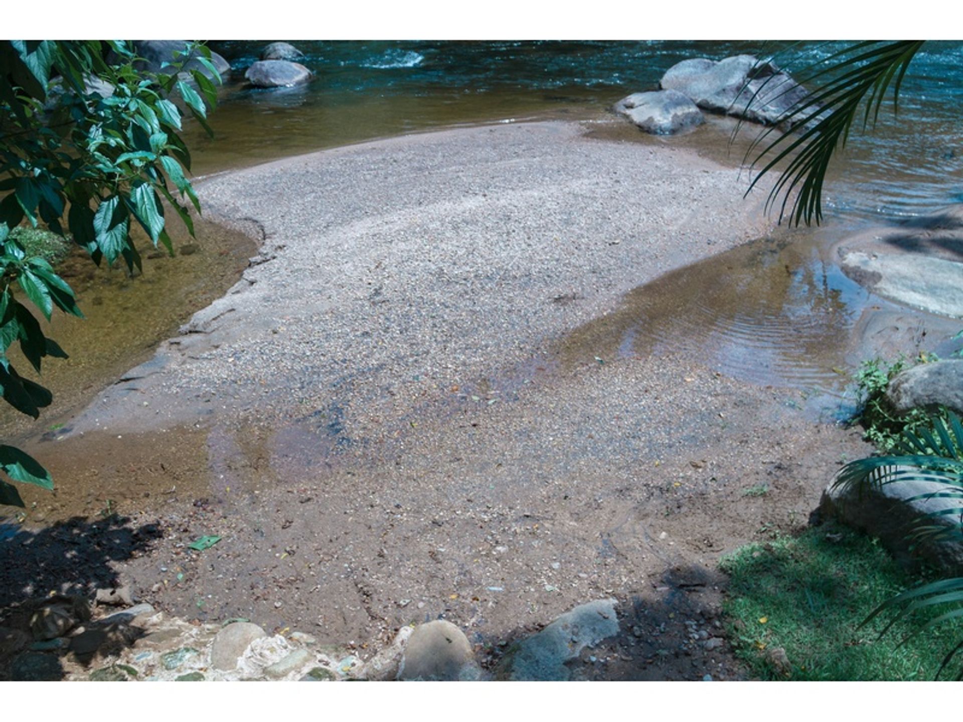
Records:
{"label": "river water around the gravel bank, including its shallow side pools", "polygon": [[[251,90],[244,72],[266,42],[212,43],[233,69],[211,118],[215,138],[196,125],[185,130],[196,176],[433,128],[544,118],[583,121],[592,133],[619,141],[688,147],[735,166],[757,127],[743,126],[731,142],[735,124],[714,118],[688,135],[655,138],[612,116],[609,108],[630,92],[655,89],[666,69],[688,58],[773,54],[793,71],[842,47],[759,41],[298,41],[303,64],[315,73],[312,81],[295,89]],[[961,106],[963,43],[928,43],[903,82],[899,116],[892,104],[884,104],[874,132],[851,138],[830,168],[821,228],[783,229],[777,238],[668,274],[629,294],[614,318],[578,329],[573,338],[592,338],[623,357],[681,349],[723,373],[795,388],[803,397],[828,394],[829,405],[838,405],[849,372],[861,360],[847,336],[866,308],[892,304],[846,278],[831,247],[870,224],[963,202]],[[153,344],[226,291],[253,252],[252,245],[232,242],[229,235],[202,226],[196,255],[151,260],[146,277],[133,282],[121,271],[93,274],[84,271],[87,262],[79,264],[85,277],[70,282],[89,320],[57,319],[49,330],[72,358],[50,364],[42,379],[59,409],[58,418],[45,414],[47,426],[56,427],[98,385],[143,360]],[[156,301],[159,291],[167,302]],[[104,334],[110,336],[106,342]],[[591,361],[587,350],[586,359],[579,356],[578,343],[562,341],[562,348],[562,356],[574,363]],[[37,429],[15,414],[0,417],[0,426],[8,433]]]}

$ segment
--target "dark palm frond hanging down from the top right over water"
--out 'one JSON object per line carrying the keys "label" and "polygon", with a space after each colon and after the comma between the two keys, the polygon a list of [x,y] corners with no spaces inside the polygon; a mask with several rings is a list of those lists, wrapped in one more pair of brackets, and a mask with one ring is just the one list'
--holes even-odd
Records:
{"label": "dark palm frond hanging down from the top right over water", "polygon": [[[766,210],[779,205],[779,221],[789,213],[791,225],[822,219],[822,186],[838,148],[846,146],[853,121],[862,114],[863,129],[879,116],[883,99],[893,89],[894,113],[898,110],[898,95],[906,70],[923,46],[922,40],[898,40],[894,42],[866,41],[840,51],[824,61],[802,83],[816,83],[805,97],[779,117],[776,126],[785,132],[758,154],[752,162],[755,167],[764,157],[771,160],[753,178],[746,194],[783,161],[789,165],[776,178],[766,201]],[[761,134],[746,154],[746,160],[758,142],[768,138],[770,128]],[[774,157],[772,157],[774,154]],[[780,197],[782,201],[780,202]]]}

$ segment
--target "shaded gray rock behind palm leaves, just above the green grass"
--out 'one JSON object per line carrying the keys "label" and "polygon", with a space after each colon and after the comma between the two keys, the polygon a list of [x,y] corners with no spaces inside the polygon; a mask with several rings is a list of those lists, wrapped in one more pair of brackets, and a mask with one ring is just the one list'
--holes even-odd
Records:
{"label": "shaded gray rock behind palm leaves, just above the green grass", "polygon": [[[832,484],[826,487],[820,501],[820,512],[826,518],[878,537],[904,566],[916,568],[924,560],[951,575],[963,575],[963,542],[943,540],[916,541],[910,551],[911,540],[907,536],[921,522],[927,526],[955,528],[959,515],[926,517],[925,514],[954,509],[958,501],[942,498],[924,498],[945,490],[945,485],[934,481],[893,481],[881,488],[867,489],[862,494],[855,490],[844,492]],[[924,521],[925,520],[925,521]]]}

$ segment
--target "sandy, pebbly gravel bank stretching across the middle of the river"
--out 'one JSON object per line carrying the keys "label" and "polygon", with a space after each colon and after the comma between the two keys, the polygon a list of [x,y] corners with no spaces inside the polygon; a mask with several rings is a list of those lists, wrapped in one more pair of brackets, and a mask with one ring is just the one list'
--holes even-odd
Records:
{"label": "sandy, pebbly gravel bank stretching across the middle of the river", "polygon": [[[28,449],[59,480],[36,501],[157,529],[104,566],[186,618],[363,649],[443,616],[497,649],[614,596],[639,630],[613,652],[625,676],[738,676],[724,645],[691,663],[674,610],[716,606],[719,554],[804,525],[858,433],[684,352],[560,348],[627,291],[768,232],[744,184],[557,122],[212,177],[205,213],[260,256]],[[202,535],[221,541],[190,551]],[[85,573],[51,560],[36,586]]]}

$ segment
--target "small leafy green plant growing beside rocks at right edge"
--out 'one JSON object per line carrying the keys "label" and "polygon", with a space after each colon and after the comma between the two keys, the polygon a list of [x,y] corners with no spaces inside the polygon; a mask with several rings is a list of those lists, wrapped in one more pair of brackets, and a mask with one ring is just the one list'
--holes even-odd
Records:
{"label": "small leafy green plant growing beside rocks at right edge", "polygon": [[[921,353],[919,356],[920,363],[937,360],[935,354]],[[922,409],[898,414],[886,399],[890,382],[906,368],[908,364],[902,356],[892,362],[873,358],[864,361],[856,372],[856,391],[861,410],[854,421],[863,425],[863,438],[883,453],[897,449],[903,431],[917,430],[929,422],[929,416]]]}

